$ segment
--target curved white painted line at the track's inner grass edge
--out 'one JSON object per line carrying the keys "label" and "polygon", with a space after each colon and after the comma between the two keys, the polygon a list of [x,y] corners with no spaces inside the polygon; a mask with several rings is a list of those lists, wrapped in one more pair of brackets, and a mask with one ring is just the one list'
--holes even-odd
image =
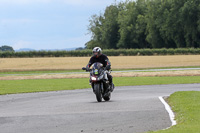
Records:
{"label": "curved white painted line at the track's inner grass edge", "polygon": [[163,99],[163,97],[159,97],[159,99],[165,105],[165,109],[169,113],[169,117],[170,117],[170,120],[172,122],[172,126],[176,125],[176,121],[174,120],[175,115],[174,115],[174,112],[171,110],[171,107],[167,104],[167,102],[165,102],[165,100]]}

